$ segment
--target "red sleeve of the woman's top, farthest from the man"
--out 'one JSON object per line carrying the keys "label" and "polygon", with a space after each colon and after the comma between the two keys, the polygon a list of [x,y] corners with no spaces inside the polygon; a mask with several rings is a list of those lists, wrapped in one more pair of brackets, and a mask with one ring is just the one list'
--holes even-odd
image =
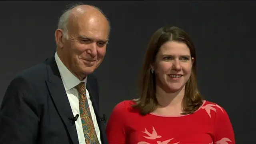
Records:
{"label": "red sleeve of the woman's top, farthest from the man", "polygon": [[232,124],[229,116],[221,106],[216,108],[216,118],[214,124],[215,144],[236,144]]}

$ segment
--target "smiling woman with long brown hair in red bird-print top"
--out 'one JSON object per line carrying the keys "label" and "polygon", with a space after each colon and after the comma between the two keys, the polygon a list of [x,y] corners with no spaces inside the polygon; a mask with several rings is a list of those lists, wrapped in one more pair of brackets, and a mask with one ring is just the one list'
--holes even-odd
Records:
{"label": "smiling woman with long brown hair in red bird-print top", "polygon": [[142,69],[140,98],[117,104],[108,120],[110,144],[235,144],[224,108],[202,99],[196,51],[175,26],[152,36]]}

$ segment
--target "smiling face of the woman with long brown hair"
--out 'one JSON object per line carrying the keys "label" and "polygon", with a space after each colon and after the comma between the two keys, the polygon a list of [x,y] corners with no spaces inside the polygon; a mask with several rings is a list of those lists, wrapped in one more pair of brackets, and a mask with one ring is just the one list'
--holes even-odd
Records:
{"label": "smiling face of the woman with long brown hair", "polygon": [[193,62],[186,44],[175,41],[164,43],[152,64],[156,85],[166,92],[182,89],[190,78]]}

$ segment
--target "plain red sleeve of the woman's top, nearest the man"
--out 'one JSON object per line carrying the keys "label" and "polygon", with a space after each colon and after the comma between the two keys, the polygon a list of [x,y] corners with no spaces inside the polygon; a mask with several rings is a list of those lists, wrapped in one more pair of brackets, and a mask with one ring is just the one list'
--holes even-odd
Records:
{"label": "plain red sleeve of the woman's top, nearest the man", "polygon": [[124,124],[126,112],[125,101],[120,102],[114,107],[106,125],[106,135],[109,144],[125,144]]}

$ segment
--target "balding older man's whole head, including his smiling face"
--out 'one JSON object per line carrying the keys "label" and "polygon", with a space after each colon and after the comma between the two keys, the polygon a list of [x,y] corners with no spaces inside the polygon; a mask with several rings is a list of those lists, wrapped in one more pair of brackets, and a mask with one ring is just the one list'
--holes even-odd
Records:
{"label": "balding older man's whole head, including his smiling face", "polygon": [[73,6],[62,14],[55,31],[57,54],[66,68],[82,80],[104,59],[109,33],[110,24],[99,8]]}

